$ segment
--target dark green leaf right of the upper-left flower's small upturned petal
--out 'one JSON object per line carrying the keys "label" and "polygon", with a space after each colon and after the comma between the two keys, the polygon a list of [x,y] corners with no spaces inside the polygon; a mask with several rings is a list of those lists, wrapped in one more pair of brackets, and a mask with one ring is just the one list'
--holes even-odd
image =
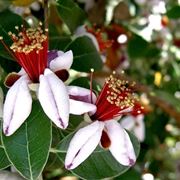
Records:
{"label": "dark green leaf right of the upper-left flower's small upturned petal", "polygon": [[91,68],[95,71],[102,68],[103,64],[100,55],[88,37],[76,38],[66,47],[65,51],[67,50],[73,51],[73,69],[81,72],[90,72]]}

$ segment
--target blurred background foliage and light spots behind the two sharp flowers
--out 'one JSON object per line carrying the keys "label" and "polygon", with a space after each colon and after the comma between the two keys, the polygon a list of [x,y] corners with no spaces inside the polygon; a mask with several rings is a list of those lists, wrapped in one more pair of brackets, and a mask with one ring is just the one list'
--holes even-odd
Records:
{"label": "blurred background foliage and light spots behind the two sharp flowers", "polygon": [[[43,22],[43,3],[0,0],[0,35],[6,36],[4,29],[14,31],[17,14],[30,26],[36,26],[39,20]],[[136,82],[140,99],[148,109],[144,118],[145,140],[141,142],[136,165],[112,179],[180,179],[180,1],[49,0],[48,17],[50,49],[73,50],[71,84],[89,88],[91,67],[95,69],[93,85],[98,91],[104,78],[116,71],[121,78]],[[77,27],[84,24],[94,34],[100,31],[103,42],[112,44],[97,52],[89,38],[75,38]],[[8,60],[10,57],[2,48],[0,56],[3,87],[5,75],[19,67]],[[72,129],[77,127],[77,117],[71,122],[77,123],[72,124]],[[56,128],[53,134],[57,140],[54,144],[66,136]],[[50,154],[44,179],[65,180],[68,176],[72,174],[65,171],[58,156]],[[76,179],[70,179],[73,178]]]}

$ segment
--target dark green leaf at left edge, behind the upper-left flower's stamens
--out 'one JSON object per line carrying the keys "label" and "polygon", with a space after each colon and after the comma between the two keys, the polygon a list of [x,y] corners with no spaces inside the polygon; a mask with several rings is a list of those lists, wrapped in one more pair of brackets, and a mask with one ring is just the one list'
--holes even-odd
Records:
{"label": "dark green leaf at left edge, behind the upper-left flower's stamens", "polygon": [[[20,26],[21,24],[23,24],[23,19],[17,14],[14,14],[9,10],[0,13],[0,36],[3,37],[3,40],[7,45],[12,44],[8,32],[17,32],[15,26]],[[3,47],[2,43],[0,43],[0,56],[13,60],[7,50]]]}

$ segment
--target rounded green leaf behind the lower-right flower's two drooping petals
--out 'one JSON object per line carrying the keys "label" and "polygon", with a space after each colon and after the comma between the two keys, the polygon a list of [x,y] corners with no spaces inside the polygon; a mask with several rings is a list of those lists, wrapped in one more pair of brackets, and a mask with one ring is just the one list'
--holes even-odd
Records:
{"label": "rounded green leaf behind the lower-right flower's two drooping petals", "polygon": [[[133,143],[136,156],[138,156],[140,150],[139,142],[132,133],[128,132],[128,134]],[[64,161],[65,152],[67,151],[72,136],[73,134],[63,139],[58,146],[58,157],[62,161]],[[130,167],[119,164],[108,150],[103,150],[98,147],[87,160],[76,169],[72,170],[72,173],[83,179],[103,179],[119,176],[129,168]]]}

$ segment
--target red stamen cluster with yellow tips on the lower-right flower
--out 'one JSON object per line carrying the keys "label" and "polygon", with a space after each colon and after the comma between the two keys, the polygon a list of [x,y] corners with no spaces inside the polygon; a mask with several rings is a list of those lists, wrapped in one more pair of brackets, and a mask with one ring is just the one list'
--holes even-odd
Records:
{"label": "red stamen cluster with yellow tips on the lower-right flower", "polygon": [[103,89],[97,98],[97,111],[93,120],[106,121],[122,115],[134,106],[136,97],[133,95],[135,83],[120,80],[112,75],[106,79]]}

